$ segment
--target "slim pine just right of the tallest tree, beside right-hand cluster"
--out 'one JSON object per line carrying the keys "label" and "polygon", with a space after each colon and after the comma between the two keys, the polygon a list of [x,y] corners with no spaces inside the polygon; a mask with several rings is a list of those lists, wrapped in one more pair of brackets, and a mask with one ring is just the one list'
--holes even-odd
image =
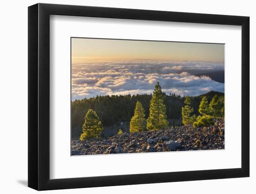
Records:
{"label": "slim pine just right of the tallest tree, beside right-hand cluster", "polygon": [[185,107],[182,107],[182,123],[183,125],[192,124],[193,122],[195,122],[196,117],[195,114],[191,116],[191,114],[194,112],[194,108],[189,106],[191,105],[191,99],[189,98],[189,96],[186,97],[184,103]]}

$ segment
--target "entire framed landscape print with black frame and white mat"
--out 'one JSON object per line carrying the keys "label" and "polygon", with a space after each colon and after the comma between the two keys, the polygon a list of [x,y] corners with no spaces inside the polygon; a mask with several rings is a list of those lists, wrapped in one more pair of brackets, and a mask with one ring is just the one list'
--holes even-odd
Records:
{"label": "entire framed landscape print with black frame and white mat", "polygon": [[28,7],[28,186],[249,176],[249,17]]}

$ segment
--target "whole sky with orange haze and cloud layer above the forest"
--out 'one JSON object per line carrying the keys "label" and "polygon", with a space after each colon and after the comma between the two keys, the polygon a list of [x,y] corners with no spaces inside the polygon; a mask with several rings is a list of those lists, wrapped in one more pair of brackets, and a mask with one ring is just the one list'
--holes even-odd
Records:
{"label": "whole sky with orange haze and cloud layer above the forest", "polygon": [[224,84],[195,74],[224,71],[224,45],[72,38],[72,100],[96,95],[196,96]]}

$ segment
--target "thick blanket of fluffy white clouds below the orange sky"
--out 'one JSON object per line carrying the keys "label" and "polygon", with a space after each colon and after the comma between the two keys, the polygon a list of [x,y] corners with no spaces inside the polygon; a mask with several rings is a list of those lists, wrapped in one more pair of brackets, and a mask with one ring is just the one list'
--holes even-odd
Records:
{"label": "thick blanket of fluffy white clouds below the orange sky", "polygon": [[72,64],[72,100],[97,95],[151,94],[159,81],[166,94],[181,96],[224,92],[224,84],[207,76],[223,63],[203,61],[108,61]]}

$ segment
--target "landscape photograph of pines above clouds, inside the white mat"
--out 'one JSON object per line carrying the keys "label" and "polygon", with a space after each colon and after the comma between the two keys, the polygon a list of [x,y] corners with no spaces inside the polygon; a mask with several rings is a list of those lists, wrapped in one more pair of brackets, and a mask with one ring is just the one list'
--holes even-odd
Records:
{"label": "landscape photograph of pines above clouds, inside the white mat", "polygon": [[225,149],[225,44],[70,41],[71,156]]}

